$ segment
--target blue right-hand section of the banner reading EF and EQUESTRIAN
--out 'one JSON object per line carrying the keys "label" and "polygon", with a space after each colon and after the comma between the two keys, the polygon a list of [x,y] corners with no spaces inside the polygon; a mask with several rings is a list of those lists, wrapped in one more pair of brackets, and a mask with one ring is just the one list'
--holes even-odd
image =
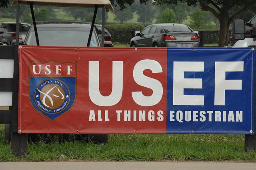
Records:
{"label": "blue right-hand section of the banner reading EF and EQUESTRIAN", "polygon": [[254,134],[254,48],[168,48],[167,133]]}

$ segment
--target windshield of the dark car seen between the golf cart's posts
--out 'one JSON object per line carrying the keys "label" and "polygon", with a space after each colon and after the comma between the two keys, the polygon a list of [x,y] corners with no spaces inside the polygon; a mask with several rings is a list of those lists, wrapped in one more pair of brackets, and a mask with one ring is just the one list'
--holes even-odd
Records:
{"label": "windshield of the dark car seen between the golf cart's posts", "polygon": [[[90,28],[42,27],[37,29],[40,46],[87,46],[90,33]],[[36,45],[34,28],[31,28],[25,43]],[[99,46],[94,32],[90,46]]]}

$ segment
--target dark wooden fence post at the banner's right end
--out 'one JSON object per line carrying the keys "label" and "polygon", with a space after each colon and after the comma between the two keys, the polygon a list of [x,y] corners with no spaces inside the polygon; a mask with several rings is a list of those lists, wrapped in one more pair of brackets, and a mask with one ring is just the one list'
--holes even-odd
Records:
{"label": "dark wooden fence post at the banner's right end", "polygon": [[[256,46],[254,46],[254,48],[256,48]],[[255,66],[255,64],[254,64],[254,66]],[[256,78],[256,74],[254,75],[254,78]],[[255,89],[255,87],[256,87],[256,84],[254,84],[254,89]],[[254,97],[256,97],[256,96],[254,95]],[[254,99],[254,135],[246,134],[244,136],[245,152],[249,152],[250,150],[253,150],[254,152],[256,152],[256,109],[255,109],[255,106],[256,106],[256,98]]]}

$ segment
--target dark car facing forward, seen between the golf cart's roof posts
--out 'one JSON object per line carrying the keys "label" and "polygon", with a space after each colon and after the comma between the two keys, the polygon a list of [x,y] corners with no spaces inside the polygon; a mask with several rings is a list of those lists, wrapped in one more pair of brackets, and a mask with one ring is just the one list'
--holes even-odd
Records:
{"label": "dark car facing forward, seen between the golf cart's roof posts", "polygon": [[[36,23],[41,46],[87,46],[91,24],[89,22],[45,21]],[[34,27],[31,26],[24,44],[36,45]],[[99,47],[94,29],[90,46]]]}

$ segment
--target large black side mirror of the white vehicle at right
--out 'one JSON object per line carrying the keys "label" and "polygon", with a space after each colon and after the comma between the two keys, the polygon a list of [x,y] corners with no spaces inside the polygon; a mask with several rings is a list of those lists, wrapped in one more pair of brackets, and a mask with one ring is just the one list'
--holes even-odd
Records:
{"label": "large black side mirror of the white vehicle at right", "polygon": [[245,38],[245,21],[244,18],[237,18],[233,22],[232,37],[235,40],[244,40]]}

